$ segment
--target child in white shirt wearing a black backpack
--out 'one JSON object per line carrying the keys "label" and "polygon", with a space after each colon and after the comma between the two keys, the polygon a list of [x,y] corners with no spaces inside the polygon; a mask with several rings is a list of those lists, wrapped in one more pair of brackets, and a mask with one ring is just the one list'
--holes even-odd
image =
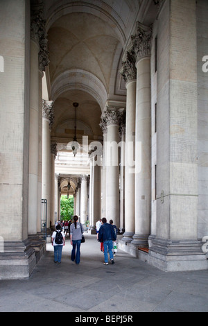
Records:
{"label": "child in white shirt wearing a black backpack", "polygon": [[56,230],[52,234],[51,241],[54,249],[54,262],[60,264],[62,248],[65,246],[65,234],[60,224],[56,225]]}

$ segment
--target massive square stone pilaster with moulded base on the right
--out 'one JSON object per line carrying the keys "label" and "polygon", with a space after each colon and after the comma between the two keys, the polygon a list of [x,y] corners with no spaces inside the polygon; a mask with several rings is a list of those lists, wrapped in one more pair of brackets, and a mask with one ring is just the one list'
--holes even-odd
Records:
{"label": "massive square stone pilaster with moulded base on the right", "polygon": [[206,269],[197,230],[196,1],[165,1],[159,27],[161,22],[167,34],[157,35],[163,46],[157,76],[164,65],[169,71],[167,80],[157,80],[157,227],[149,237],[149,259],[165,271]]}

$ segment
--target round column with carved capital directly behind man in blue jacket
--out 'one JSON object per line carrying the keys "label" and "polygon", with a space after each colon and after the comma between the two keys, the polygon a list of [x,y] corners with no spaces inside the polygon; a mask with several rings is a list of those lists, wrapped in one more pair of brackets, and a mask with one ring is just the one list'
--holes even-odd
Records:
{"label": "round column with carved capital directly behind man in blue jacket", "polygon": [[105,112],[107,123],[106,153],[106,218],[113,219],[119,225],[119,115],[115,108],[107,108]]}

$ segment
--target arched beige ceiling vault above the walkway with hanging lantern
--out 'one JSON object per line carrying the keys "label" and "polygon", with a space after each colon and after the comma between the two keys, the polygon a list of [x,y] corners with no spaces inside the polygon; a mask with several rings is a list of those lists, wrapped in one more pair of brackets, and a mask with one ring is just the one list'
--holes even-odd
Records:
{"label": "arched beige ceiling vault above the walkway with hanging lantern", "polygon": [[107,103],[122,107],[125,103],[125,83],[119,74],[123,52],[137,19],[150,23],[143,17],[153,1],[42,1],[50,61],[46,80],[55,117],[51,139],[59,144],[73,139],[73,102],[78,102],[78,137],[99,141]]}

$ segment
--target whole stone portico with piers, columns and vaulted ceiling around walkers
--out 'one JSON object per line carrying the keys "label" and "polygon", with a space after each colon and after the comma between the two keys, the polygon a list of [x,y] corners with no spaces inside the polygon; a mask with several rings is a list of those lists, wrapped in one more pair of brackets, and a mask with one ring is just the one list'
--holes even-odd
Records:
{"label": "whole stone portico with piers, columns and vaulted ceiling around walkers", "polygon": [[207,269],[207,1],[0,8],[0,280],[31,275],[68,180],[92,234],[113,219],[123,251]]}

